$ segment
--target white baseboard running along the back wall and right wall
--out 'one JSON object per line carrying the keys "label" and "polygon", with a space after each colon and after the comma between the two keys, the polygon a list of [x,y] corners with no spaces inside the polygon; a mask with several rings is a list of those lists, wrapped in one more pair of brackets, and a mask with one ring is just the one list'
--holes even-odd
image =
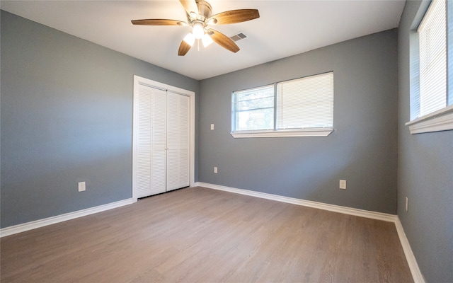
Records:
{"label": "white baseboard running along the back wall and right wall", "polygon": [[234,192],[236,194],[249,195],[251,197],[260,197],[260,198],[267,199],[267,200],[276,200],[277,202],[287,202],[290,204],[298,204],[298,205],[302,205],[304,207],[314,207],[317,209],[324,209],[324,210],[328,210],[331,212],[339,212],[339,213],[343,213],[343,214],[362,216],[362,217],[366,217],[366,218],[370,218],[370,219],[394,222],[394,224],[396,226],[396,231],[398,233],[398,238],[399,238],[399,241],[401,242],[401,246],[403,246],[404,255],[406,255],[406,260],[408,261],[409,269],[411,270],[414,282],[415,283],[425,283],[425,279],[423,278],[423,275],[420,272],[420,268],[418,267],[417,261],[415,260],[415,256],[413,255],[411,245],[409,245],[408,238],[406,238],[406,233],[404,233],[403,226],[401,225],[401,222],[399,221],[399,218],[397,215],[386,214],[386,213],[382,213],[382,212],[370,212],[368,210],[363,210],[363,209],[341,207],[341,206],[333,205],[333,204],[325,204],[322,202],[312,202],[309,200],[300,200],[300,199],[295,199],[292,197],[271,195],[271,194],[267,194],[265,192],[254,192],[251,190],[242,190],[242,189],[237,189],[234,187],[226,187],[226,186],[222,186],[222,185],[214,185],[214,184],[209,184],[209,183],[197,182],[197,183],[195,183],[195,186],[207,187],[207,188],[214,189],[214,190],[223,190],[225,192]]}

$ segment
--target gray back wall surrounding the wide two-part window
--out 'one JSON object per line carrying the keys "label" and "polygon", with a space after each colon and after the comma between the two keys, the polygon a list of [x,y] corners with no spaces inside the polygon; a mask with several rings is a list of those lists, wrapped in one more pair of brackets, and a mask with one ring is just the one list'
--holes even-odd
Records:
{"label": "gray back wall surrounding the wide two-part window", "polygon": [[[328,137],[231,137],[232,91],[326,71]],[[397,75],[395,29],[201,81],[200,182],[396,214]]]}

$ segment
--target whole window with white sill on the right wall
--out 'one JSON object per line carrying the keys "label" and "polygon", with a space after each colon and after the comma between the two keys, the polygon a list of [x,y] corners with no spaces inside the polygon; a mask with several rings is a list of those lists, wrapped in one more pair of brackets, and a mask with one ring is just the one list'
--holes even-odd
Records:
{"label": "whole window with white sill on the right wall", "polygon": [[412,134],[453,129],[447,26],[447,1],[433,0],[417,29],[418,76],[411,82],[417,85],[411,91],[411,122],[406,123]]}

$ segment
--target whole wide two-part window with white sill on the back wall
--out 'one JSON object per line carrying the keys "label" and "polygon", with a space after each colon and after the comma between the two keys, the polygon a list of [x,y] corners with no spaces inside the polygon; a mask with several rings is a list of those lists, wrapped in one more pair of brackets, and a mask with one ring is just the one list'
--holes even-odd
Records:
{"label": "whole wide two-part window with white sill on the back wall", "polygon": [[333,130],[333,72],[233,93],[233,137],[326,137]]}

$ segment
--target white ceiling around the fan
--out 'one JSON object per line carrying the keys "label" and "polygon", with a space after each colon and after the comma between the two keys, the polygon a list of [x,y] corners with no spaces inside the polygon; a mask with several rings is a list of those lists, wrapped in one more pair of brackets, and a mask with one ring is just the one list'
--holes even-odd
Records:
{"label": "white ceiling around the fan", "polygon": [[404,0],[221,1],[208,0],[212,13],[256,8],[260,18],[213,28],[227,36],[248,36],[232,53],[212,44],[184,57],[178,47],[190,31],[182,26],[139,26],[131,20],[185,21],[178,0],[1,1],[1,9],[98,45],[201,80],[288,57],[336,42],[397,28]]}

